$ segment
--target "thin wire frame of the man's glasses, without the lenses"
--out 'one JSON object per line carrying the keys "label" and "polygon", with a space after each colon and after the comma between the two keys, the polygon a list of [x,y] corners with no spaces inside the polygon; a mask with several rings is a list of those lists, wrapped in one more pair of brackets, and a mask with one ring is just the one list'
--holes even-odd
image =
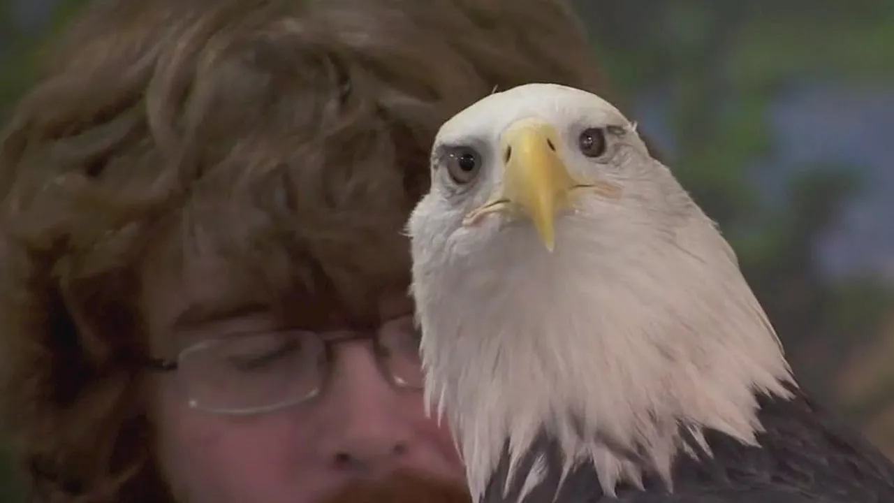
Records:
{"label": "thin wire frame of the man's glasses, without the lenses", "polygon": [[[283,331],[292,331],[292,330],[283,330]],[[243,334],[247,335],[247,334]],[[389,351],[382,344],[381,336],[377,330],[369,330],[369,331],[361,331],[361,332],[328,332],[328,333],[316,333],[316,332],[303,332],[302,336],[304,337],[316,337],[316,340],[319,341],[323,345],[324,354],[325,354],[325,369],[323,370],[322,379],[320,381],[319,386],[317,386],[314,390],[309,392],[307,395],[302,396],[299,399],[286,400],[280,404],[274,405],[264,405],[259,407],[248,407],[248,408],[221,408],[221,407],[207,407],[203,405],[199,405],[196,401],[187,396],[187,402],[190,405],[190,408],[205,411],[207,413],[215,413],[219,415],[229,415],[229,416],[249,416],[249,415],[258,415],[264,413],[274,413],[281,411],[283,409],[291,408],[299,405],[306,405],[309,402],[312,402],[317,396],[323,395],[325,389],[328,387],[330,379],[332,377],[333,371],[333,362],[335,362],[335,351],[334,347],[336,345],[341,345],[345,343],[358,342],[358,341],[369,341],[373,345],[373,355],[375,357],[375,366],[378,368],[379,372],[385,378],[389,385],[392,388],[399,390],[408,390],[408,391],[421,391],[424,388],[423,384],[413,385],[407,382],[405,379],[401,379],[400,376],[394,375],[389,368],[389,365],[384,362],[384,359],[387,358],[387,352]],[[186,346],[181,349],[180,353],[173,358],[160,358],[160,357],[150,357],[147,361],[147,367],[149,371],[153,371],[156,373],[173,373],[180,369],[182,360],[190,354],[190,352],[198,350],[203,345],[208,345],[210,342],[220,341],[229,337],[234,337],[233,335],[223,336],[223,337],[209,337],[198,341],[197,343]],[[238,336],[237,336],[238,337]]]}

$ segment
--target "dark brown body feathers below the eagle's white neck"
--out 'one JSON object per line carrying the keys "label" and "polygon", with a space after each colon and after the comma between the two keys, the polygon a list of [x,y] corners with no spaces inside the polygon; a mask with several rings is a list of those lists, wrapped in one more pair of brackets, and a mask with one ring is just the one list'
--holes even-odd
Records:
{"label": "dark brown body feathers below the eagle's white neck", "polygon": [[[681,454],[674,463],[673,489],[656,475],[642,488],[621,484],[617,498],[604,494],[592,464],[578,465],[559,484],[552,469],[537,488],[519,499],[519,486],[502,492],[506,461],[493,473],[486,503],[888,503],[894,502],[894,464],[864,437],[802,390],[790,400],[761,396],[759,446],[743,445],[706,431],[712,456]],[[556,457],[555,444],[537,440],[526,456]],[[561,462],[547,463],[559,467]]]}

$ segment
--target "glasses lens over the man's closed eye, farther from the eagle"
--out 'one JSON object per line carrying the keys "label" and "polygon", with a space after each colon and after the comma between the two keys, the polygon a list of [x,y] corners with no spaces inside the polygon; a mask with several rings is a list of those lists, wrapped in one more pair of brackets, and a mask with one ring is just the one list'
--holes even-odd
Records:
{"label": "glasses lens over the man's closed eye, farther from the eagle", "polygon": [[199,343],[181,355],[180,372],[193,406],[249,413],[312,396],[322,384],[324,362],[317,337],[283,331]]}

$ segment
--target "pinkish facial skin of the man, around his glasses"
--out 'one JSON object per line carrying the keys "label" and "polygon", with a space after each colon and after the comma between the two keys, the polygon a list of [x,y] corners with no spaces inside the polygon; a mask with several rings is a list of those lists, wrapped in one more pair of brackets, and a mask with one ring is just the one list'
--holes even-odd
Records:
{"label": "pinkish facial skin of the man, around his glasses", "polygon": [[[143,278],[141,307],[154,355],[176,357],[184,347],[232,327],[292,328],[279,326],[284,321],[263,310],[177,326],[175,320],[190,306],[232,292],[225,269],[214,260],[190,263],[182,275],[164,263],[150,264]],[[382,298],[380,305],[383,326],[411,314],[405,294]],[[357,333],[338,318],[333,313],[330,328],[319,333]],[[407,469],[462,482],[450,434],[426,417],[421,392],[395,386],[386,377],[370,340],[331,347],[322,392],[274,412],[210,413],[190,406],[182,369],[153,379],[159,461],[175,497],[189,503],[313,503],[351,482]],[[232,383],[221,385],[228,386]]]}

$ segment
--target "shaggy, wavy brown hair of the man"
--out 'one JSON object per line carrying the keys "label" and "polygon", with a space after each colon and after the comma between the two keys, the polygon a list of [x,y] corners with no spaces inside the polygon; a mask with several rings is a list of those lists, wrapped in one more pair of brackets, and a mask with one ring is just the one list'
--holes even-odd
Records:
{"label": "shaggy, wavy brown hair of the man", "polygon": [[599,91],[587,46],[561,0],[85,13],[0,143],[0,397],[35,499],[169,498],[136,392],[149,243],[187,250],[201,227],[271,293],[363,311],[407,280],[436,128],[528,81]]}

